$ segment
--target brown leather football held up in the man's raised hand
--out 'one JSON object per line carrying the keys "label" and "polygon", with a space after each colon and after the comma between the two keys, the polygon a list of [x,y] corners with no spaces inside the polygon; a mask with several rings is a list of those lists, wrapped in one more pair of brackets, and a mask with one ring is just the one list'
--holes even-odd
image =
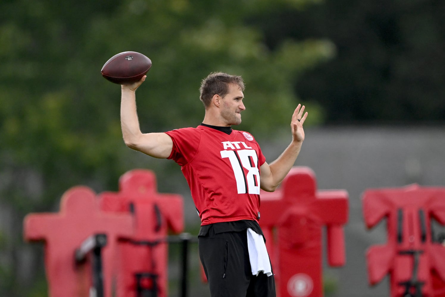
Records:
{"label": "brown leather football held up in the man's raised hand", "polygon": [[151,60],[136,51],[123,51],[105,62],[101,74],[112,83],[134,83],[150,70]]}

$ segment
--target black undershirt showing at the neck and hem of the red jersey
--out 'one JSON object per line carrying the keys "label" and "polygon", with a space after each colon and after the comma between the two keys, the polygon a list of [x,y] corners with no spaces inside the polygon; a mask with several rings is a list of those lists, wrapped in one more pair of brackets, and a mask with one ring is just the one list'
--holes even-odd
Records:
{"label": "black undershirt showing at the neck and hem of the red jersey", "polygon": [[[231,127],[212,126],[212,125],[207,125],[204,123],[201,123],[200,126],[209,127],[209,128],[224,132],[227,135],[230,135],[232,133]],[[233,222],[220,222],[220,223],[214,223],[214,224],[210,224],[210,225],[201,226],[198,236],[206,236],[206,234],[209,232],[210,228],[214,229],[215,234],[222,233],[222,232],[240,232],[240,231],[247,230],[247,228],[251,228],[256,233],[263,235],[263,231],[261,231],[261,228],[256,221],[254,221],[254,220],[239,220],[239,221],[233,221]]]}

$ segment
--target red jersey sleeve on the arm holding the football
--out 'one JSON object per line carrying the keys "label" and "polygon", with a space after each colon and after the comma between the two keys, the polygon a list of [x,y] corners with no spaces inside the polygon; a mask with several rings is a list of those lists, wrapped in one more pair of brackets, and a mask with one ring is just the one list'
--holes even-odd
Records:
{"label": "red jersey sleeve on the arm holding the football", "polygon": [[190,162],[198,152],[201,133],[196,128],[181,128],[165,132],[173,141],[173,148],[167,159],[180,166]]}

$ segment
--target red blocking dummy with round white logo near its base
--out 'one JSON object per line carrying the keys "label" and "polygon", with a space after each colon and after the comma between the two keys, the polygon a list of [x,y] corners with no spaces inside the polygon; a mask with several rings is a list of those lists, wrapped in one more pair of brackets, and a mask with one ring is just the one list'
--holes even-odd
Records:
{"label": "red blocking dummy with round white logo near its base", "polygon": [[327,230],[328,264],[345,264],[345,190],[317,190],[314,172],[293,167],[279,189],[261,192],[261,218],[279,297],[323,296],[321,229]]}

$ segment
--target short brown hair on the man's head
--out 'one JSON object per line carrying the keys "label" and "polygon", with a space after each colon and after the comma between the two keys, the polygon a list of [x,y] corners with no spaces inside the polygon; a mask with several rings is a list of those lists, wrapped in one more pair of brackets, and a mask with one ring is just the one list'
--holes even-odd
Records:
{"label": "short brown hair on the man's head", "polygon": [[244,82],[241,76],[223,72],[210,73],[205,79],[202,79],[199,99],[206,108],[209,107],[213,95],[218,94],[221,97],[227,95],[230,83],[238,85],[241,91],[244,91]]}

